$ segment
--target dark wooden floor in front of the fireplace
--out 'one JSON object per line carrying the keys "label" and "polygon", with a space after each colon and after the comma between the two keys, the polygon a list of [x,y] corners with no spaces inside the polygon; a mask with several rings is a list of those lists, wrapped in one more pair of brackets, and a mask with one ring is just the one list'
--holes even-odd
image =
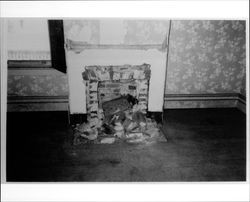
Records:
{"label": "dark wooden floor in front of the fireplace", "polygon": [[7,181],[245,181],[246,115],[164,112],[166,143],[73,146],[67,112],[7,114]]}

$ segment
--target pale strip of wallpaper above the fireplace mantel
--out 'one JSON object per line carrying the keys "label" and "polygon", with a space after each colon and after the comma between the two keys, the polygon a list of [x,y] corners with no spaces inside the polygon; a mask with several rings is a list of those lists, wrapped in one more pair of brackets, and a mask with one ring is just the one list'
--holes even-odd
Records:
{"label": "pale strip of wallpaper above the fireplace mantel", "polygon": [[[107,21],[108,24],[105,24]],[[122,27],[116,27],[117,22],[122,24]],[[117,31],[114,29],[121,29],[119,32],[122,39],[119,44],[162,44],[168,33],[169,20],[64,20],[65,38],[86,44],[100,44],[101,35],[107,34],[100,29],[101,25],[104,26],[105,32],[108,31],[112,36]]]}

